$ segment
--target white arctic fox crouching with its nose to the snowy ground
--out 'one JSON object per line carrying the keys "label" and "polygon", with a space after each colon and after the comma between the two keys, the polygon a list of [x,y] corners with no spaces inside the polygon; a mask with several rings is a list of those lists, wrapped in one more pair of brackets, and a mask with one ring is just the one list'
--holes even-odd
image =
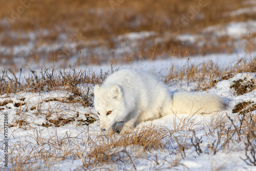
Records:
{"label": "white arctic fox crouching with its nose to the snowy ground", "polygon": [[94,105],[102,130],[130,132],[141,121],[170,114],[211,113],[225,108],[223,99],[208,93],[171,93],[156,76],[143,71],[120,70],[102,86],[94,87]]}

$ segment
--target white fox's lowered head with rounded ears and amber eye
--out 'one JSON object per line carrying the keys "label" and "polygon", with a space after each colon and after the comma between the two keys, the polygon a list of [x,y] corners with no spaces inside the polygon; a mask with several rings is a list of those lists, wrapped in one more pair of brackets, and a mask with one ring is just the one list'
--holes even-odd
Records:
{"label": "white fox's lowered head with rounded ears and amber eye", "polygon": [[123,122],[126,117],[124,98],[119,86],[94,87],[94,106],[100,120],[102,130],[114,130],[118,122]]}

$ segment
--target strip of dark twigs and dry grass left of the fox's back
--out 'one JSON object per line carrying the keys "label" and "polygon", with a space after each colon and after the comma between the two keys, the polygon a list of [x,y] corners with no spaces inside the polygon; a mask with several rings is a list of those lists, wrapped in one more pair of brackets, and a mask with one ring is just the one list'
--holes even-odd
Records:
{"label": "strip of dark twigs and dry grass left of the fox's back", "polygon": [[[15,73],[15,70],[3,71],[2,76],[0,76],[0,95],[20,91],[44,92],[61,89],[69,90],[76,96],[82,96],[81,92],[77,89],[78,84],[100,84],[108,75],[108,73],[103,72],[95,74],[92,69],[75,70],[68,68],[66,70],[59,70],[53,67],[41,69],[40,73],[29,67],[28,69],[29,73],[26,77],[22,77],[22,69],[20,69],[19,75]],[[82,96],[81,98],[86,100],[88,97]],[[72,100],[72,97],[68,100]]]}

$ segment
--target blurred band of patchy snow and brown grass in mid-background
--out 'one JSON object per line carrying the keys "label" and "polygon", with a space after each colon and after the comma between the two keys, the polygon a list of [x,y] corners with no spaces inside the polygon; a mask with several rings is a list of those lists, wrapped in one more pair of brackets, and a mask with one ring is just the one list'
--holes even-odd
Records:
{"label": "blurred band of patchy snow and brown grass in mid-background", "polygon": [[[243,12],[243,9],[241,10]],[[246,10],[244,9],[244,11]],[[237,12],[234,11],[233,13]],[[233,13],[226,15],[234,15]],[[245,53],[255,50],[256,38],[253,36],[256,33],[255,28],[255,20],[248,20],[247,22],[231,22],[225,25],[208,26],[196,34],[185,33],[177,35],[166,32],[163,35],[159,35],[154,31],[142,31],[112,36],[110,40],[89,40],[76,31],[71,30],[68,33],[60,33],[55,42],[43,42],[42,44],[37,39],[40,36],[48,36],[51,32],[50,30],[26,33],[7,32],[7,35],[12,39],[17,35],[19,37],[22,35],[22,37],[26,38],[27,42],[13,46],[1,45],[0,54],[11,56],[11,58],[1,58],[0,69],[8,70],[11,67],[10,65],[14,65],[16,69],[26,68],[26,63],[30,66],[39,65],[44,68],[58,62],[59,67],[65,68],[69,65],[74,67],[79,61],[82,61],[84,64],[91,64],[97,61],[101,64],[110,63],[112,58],[118,61],[125,61],[133,56],[133,54],[140,53],[142,49],[145,52],[150,52],[154,45],[161,45],[170,40],[175,42],[177,39],[181,43],[181,49],[183,48],[182,45],[193,45],[201,50],[204,46],[209,47],[209,49],[211,49],[211,46],[218,47],[220,46],[219,39],[229,37],[223,44],[234,48],[231,53]],[[0,35],[0,40],[2,37],[3,35]],[[70,39],[74,41],[71,42]],[[111,47],[110,44],[112,44]],[[169,54],[163,52],[162,55],[167,57]],[[178,55],[174,56],[177,57]],[[97,58],[94,59],[95,57]],[[156,56],[156,58],[161,57]],[[54,60],[55,62],[53,62]],[[6,63],[7,65],[1,65],[1,63]]]}

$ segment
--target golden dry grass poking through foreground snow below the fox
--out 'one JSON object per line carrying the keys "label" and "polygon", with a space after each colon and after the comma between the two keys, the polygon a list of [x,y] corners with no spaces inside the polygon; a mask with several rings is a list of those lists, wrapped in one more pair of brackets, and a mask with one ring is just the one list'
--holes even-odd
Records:
{"label": "golden dry grass poking through foreground snow below the fox", "polygon": [[[143,161],[154,163],[153,168],[159,170],[170,169],[182,166],[180,161],[186,158],[188,150],[194,149],[198,155],[216,155],[220,151],[232,149],[230,144],[233,142],[241,141],[245,141],[246,144],[246,158],[243,159],[248,164],[254,165],[255,129],[253,126],[244,120],[246,124],[240,125],[241,127],[238,125],[237,128],[247,131],[239,132],[238,136],[236,127],[233,126],[239,123],[238,120],[229,120],[228,116],[218,114],[212,118],[210,123],[205,124],[205,129],[207,132],[218,132],[218,136],[206,147],[201,145],[202,140],[197,137],[195,130],[188,130],[186,135],[180,136],[181,130],[177,129],[175,133],[167,127],[153,125],[125,135],[81,132],[77,136],[72,136],[72,133],[68,132],[65,135],[59,135],[56,130],[55,135],[45,137],[43,130],[30,131],[28,132],[29,141],[20,139],[10,144],[10,170],[50,169],[63,160],[81,161],[82,166],[77,168],[79,170],[136,170]],[[197,125],[198,123],[194,123],[195,127]],[[215,135],[209,136],[215,137]],[[239,140],[240,136],[242,139]],[[160,164],[163,155],[171,157],[171,160],[169,157],[166,159],[167,166],[166,162],[164,166]],[[225,164],[223,163],[222,166],[225,167]]]}

